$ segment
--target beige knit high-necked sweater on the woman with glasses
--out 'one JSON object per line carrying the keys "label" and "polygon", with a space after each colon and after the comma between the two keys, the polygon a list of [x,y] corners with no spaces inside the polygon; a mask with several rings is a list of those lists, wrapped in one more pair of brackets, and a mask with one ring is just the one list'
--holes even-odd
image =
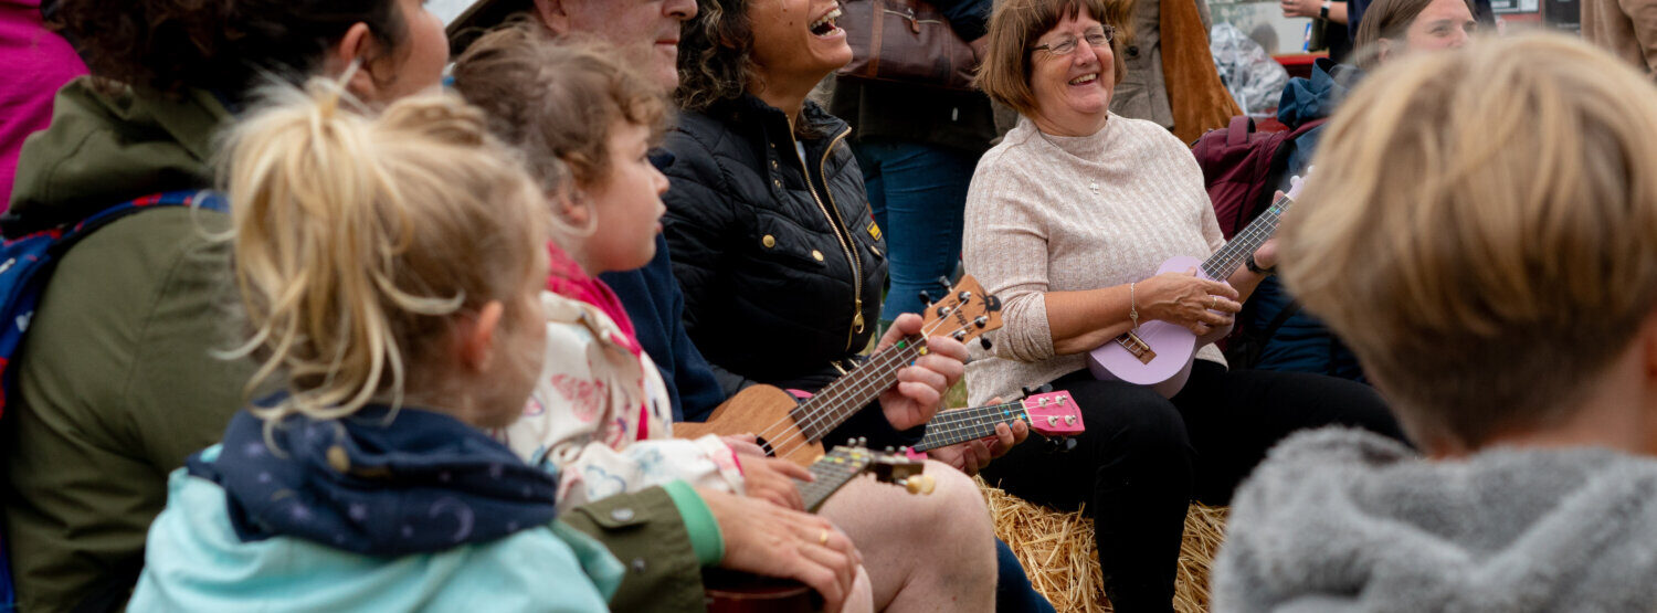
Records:
{"label": "beige knit high-necked sweater on the woman with glasses", "polygon": [[[984,404],[1087,368],[1080,353],[1054,355],[1046,292],[1138,282],[1225,239],[1191,151],[1155,123],[1110,114],[1080,138],[1019,118],[978,162],[963,244],[966,272],[1002,303],[993,356],[966,366],[968,401]],[[1225,363],[1211,345],[1198,358]]]}

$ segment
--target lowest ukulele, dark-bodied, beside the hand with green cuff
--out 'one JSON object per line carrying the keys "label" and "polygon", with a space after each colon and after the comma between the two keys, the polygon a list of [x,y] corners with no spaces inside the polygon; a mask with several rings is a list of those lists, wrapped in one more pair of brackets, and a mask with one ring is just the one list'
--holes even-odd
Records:
{"label": "lowest ukulele, dark-bodied, beside the hand with green cuff", "polygon": [[[910,494],[931,494],[935,482],[921,474],[925,469],[921,459],[873,452],[852,441],[807,467],[815,480],[795,479],[794,485],[805,499],[805,510],[815,514],[833,492],[863,472],[872,472],[880,482],[903,485]],[[824,606],[822,595],[805,583],[722,568],[703,570],[703,590],[709,613],[807,613]]]}

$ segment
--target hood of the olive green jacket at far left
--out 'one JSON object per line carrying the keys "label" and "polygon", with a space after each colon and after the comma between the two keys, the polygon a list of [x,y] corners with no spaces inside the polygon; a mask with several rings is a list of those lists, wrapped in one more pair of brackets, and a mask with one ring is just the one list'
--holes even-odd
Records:
{"label": "hood of the olive green jacket at far left", "polygon": [[106,93],[88,76],[70,81],[53,101],[51,124],[23,144],[0,229],[18,237],[139,195],[209,187],[214,136],[229,121],[205,89]]}

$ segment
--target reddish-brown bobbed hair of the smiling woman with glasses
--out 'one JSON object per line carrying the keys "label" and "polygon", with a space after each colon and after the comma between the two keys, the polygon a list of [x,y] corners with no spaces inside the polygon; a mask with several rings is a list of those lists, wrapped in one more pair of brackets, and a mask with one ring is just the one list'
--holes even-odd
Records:
{"label": "reddish-brown bobbed hair of the smiling woman with glasses", "polygon": [[[1140,0],[1152,2],[1152,0]],[[1059,27],[1059,22],[1087,8],[1099,23],[1117,28],[1110,40],[1115,84],[1128,73],[1122,53],[1123,41],[1133,38],[1133,2],[1128,0],[1002,0],[989,15],[988,50],[978,66],[978,88],[991,99],[1011,106],[1019,114],[1036,113],[1036,93],[1031,89],[1031,46],[1036,40]]]}

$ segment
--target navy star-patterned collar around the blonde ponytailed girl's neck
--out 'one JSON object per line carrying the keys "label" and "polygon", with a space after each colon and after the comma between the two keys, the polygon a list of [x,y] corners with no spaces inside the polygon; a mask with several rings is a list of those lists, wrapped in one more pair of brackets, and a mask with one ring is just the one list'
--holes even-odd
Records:
{"label": "navy star-patterned collar around the blonde ponytailed girl's neck", "polygon": [[341,419],[292,414],[268,432],[242,411],[217,457],[196,454],[186,467],[224,487],[244,542],[295,537],[386,557],[545,525],[558,489],[552,474],[459,419],[378,404]]}

